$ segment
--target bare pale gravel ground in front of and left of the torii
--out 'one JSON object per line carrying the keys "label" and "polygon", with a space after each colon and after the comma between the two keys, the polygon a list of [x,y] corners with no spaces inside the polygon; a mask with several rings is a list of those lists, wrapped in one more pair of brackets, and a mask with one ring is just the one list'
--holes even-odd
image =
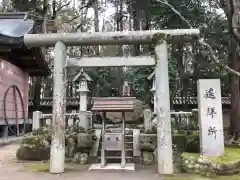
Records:
{"label": "bare pale gravel ground in front of and left of the torii", "polygon": [[155,180],[161,179],[155,168],[138,167],[134,172],[118,171],[88,171],[87,167],[66,172],[62,175],[52,175],[49,173],[34,173],[24,169],[24,165],[16,162],[16,149],[18,144],[11,144],[0,147],[0,180],[20,179],[20,180]]}

